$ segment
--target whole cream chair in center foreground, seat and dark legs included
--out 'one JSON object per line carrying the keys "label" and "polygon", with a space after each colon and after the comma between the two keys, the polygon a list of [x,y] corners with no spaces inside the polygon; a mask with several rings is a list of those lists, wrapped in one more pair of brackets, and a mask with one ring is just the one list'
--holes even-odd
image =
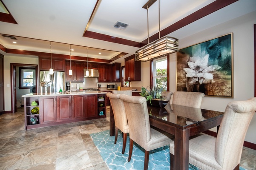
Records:
{"label": "whole cream chair in center foreground, seat and dark legs included", "polygon": [[144,97],[121,94],[120,99],[124,102],[124,108],[129,122],[130,145],[128,161],[132,157],[133,142],[136,142],[145,150],[144,170],[147,170],[149,151],[170,144],[173,136],[150,128],[147,100]]}

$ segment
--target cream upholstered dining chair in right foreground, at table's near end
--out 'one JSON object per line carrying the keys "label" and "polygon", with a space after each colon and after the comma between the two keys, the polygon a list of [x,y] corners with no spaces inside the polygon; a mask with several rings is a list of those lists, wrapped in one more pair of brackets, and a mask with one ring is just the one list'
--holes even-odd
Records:
{"label": "cream upholstered dining chair in right foreground, at table's near end", "polygon": [[[200,133],[190,139],[189,162],[203,170],[239,170],[244,138],[255,111],[256,98],[230,102],[217,138]],[[174,142],[170,143],[170,153],[172,162]]]}

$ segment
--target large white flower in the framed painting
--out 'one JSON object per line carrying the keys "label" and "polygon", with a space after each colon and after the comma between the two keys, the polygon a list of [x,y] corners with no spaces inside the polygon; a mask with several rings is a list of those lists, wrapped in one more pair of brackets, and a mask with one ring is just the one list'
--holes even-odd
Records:
{"label": "large white flower in the framed painting", "polygon": [[216,71],[221,67],[219,65],[207,66],[208,58],[209,58],[209,54],[207,54],[203,58],[192,57],[194,62],[191,62],[191,61],[187,62],[190,68],[183,68],[183,70],[186,71],[187,73],[186,77],[198,78],[200,84],[203,83],[204,79],[210,79],[210,80],[213,79],[213,74],[209,72]]}

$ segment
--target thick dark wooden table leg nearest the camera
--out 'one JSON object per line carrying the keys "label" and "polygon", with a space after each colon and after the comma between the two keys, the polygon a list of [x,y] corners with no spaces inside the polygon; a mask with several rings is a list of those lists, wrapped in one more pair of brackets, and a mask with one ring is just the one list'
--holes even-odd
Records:
{"label": "thick dark wooden table leg nearest the camera", "polygon": [[174,137],[174,169],[188,170],[189,129],[175,129]]}

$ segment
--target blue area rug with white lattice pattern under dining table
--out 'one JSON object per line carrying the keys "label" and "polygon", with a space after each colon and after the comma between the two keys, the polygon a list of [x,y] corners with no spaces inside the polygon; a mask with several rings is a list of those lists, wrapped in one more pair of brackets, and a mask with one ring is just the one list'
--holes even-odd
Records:
{"label": "blue area rug with white lattice pattern under dining table", "polygon": [[[118,133],[118,139],[114,144],[115,136],[109,135],[109,130],[92,133],[90,135],[101,157],[110,170],[142,170],[144,167],[144,149],[135,142],[133,143],[132,159],[128,162],[129,136],[124,155],[122,154],[122,134]],[[170,170],[170,149],[169,145],[150,151],[149,170]],[[201,170],[198,167],[189,165],[189,170]],[[245,170],[240,167],[240,170]]]}

